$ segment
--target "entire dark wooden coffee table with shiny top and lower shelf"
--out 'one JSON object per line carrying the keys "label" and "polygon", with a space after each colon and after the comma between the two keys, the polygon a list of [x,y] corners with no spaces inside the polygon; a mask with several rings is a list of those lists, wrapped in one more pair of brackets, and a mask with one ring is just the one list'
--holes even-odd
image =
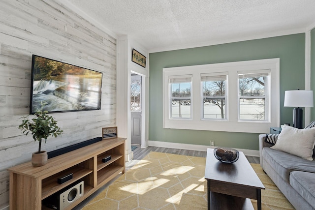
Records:
{"label": "entire dark wooden coffee table with shiny top and lower shelf", "polygon": [[253,210],[250,199],[261,210],[261,189],[265,189],[251,164],[240,151],[234,163],[222,163],[208,148],[205,179],[208,184],[208,210]]}

